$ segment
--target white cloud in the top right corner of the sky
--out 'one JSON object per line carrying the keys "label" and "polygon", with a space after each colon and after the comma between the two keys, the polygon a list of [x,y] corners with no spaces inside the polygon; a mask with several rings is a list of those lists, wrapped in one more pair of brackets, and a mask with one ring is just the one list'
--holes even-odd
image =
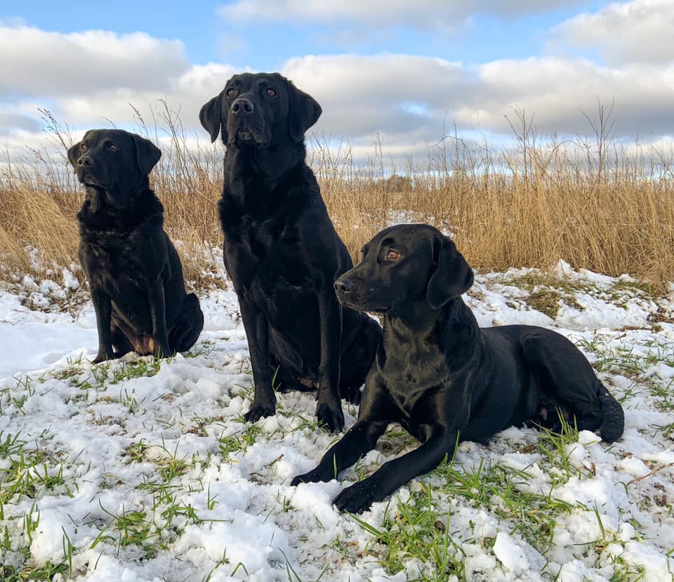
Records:
{"label": "white cloud in the top right corner of the sky", "polygon": [[674,59],[672,0],[633,0],[583,13],[550,31],[548,50],[592,48],[609,65]]}

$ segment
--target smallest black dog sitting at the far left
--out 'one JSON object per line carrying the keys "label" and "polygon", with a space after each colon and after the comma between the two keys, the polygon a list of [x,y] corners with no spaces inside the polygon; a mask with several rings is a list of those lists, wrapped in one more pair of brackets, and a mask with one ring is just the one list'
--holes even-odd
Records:
{"label": "smallest black dog sitting at the far left", "polygon": [[93,129],[68,150],[86,187],[77,214],[79,261],[98,326],[95,362],[137,351],[186,351],[204,326],[199,299],[185,294],[183,266],[163,230],[164,207],[150,190],[161,151],[119,129]]}

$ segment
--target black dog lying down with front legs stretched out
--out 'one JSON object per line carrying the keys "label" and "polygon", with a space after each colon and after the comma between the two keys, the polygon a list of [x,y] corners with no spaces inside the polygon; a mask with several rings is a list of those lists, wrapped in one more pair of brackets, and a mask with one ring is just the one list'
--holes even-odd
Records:
{"label": "black dog lying down with front legs stretched out", "polygon": [[423,444],[342,491],[340,510],[364,511],[434,469],[457,439],[484,442],[527,421],[559,430],[557,413],[579,429],[599,429],[604,441],[619,439],[623,409],[569,340],[531,325],[477,326],[461,299],[473,271],[440,231],[393,226],[363,252],[335,287],[343,304],[383,313],[376,364],[355,425],[293,485],[333,479],[390,422]]}

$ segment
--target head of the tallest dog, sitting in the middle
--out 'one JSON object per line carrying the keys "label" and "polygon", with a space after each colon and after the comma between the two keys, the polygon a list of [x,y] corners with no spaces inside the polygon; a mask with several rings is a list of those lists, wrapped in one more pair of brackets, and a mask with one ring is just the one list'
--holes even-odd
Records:
{"label": "head of the tallest dog, sitting in the middle", "polygon": [[225,89],[199,111],[211,142],[237,148],[268,148],[301,143],[304,132],[317,122],[321,106],[278,73],[234,75]]}

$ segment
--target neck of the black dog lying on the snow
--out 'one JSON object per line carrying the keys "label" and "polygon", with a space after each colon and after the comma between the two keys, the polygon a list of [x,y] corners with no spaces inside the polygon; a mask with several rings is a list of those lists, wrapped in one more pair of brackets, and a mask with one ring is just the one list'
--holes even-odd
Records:
{"label": "neck of the black dog lying on the snow", "polygon": [[480,339],[477,320],[461,297],[440,309],[432,309],[425,299],[404,302],[385,312],[383,320],[385,339],[409,342],[414,337],[428,347],[442,345],[447,353],[474,348]]}

